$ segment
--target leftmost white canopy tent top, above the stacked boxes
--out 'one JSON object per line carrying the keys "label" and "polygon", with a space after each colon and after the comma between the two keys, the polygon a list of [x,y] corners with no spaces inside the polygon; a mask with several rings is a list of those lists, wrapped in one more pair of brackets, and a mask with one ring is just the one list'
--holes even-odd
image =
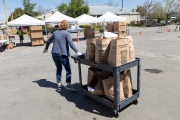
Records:
{"label": "leftmost white canopy tent top, above the stacked boxes", "polygon": [[23,16],[11,22],[8,22],[7,25],[8,26],[34,26],[34,25],[45,25],[45,22],[24,14]]}

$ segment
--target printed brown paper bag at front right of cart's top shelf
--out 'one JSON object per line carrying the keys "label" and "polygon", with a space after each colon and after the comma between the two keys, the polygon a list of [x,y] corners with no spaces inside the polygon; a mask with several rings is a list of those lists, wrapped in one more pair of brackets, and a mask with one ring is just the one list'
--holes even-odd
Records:
{"label": "printed brown paper bag at front right of cart's top shelf", "polygon": [[108,64],[119,66],[129,62],[129,40],[117,38],[111,40]]}

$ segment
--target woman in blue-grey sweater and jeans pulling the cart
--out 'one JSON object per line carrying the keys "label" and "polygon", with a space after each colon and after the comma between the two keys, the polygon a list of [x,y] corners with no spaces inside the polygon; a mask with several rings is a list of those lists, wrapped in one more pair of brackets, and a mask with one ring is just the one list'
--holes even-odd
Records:
{"label": "woman in blue-grey sweater and jeans pulling the cart", "polygon": [[66,20],[60,22],[60,29],[56,30],[50,38],[46,42],[45,49],[43,53],[48,51],[50,43],[54,40],[53,48],[52,48],[52,59],[56,66],[56,80],[57,80],[57,88],[61,90],[63,85],[61,84],[61,72],[62,72],[62,65],[66,70],[66,89],[77,91],[73,85],[71,84],[71,65],[69,61],[70,51],[69,46],[78,54],[82,55],[75,47],[70,33],[67,31],[69,28],[69,24]]}

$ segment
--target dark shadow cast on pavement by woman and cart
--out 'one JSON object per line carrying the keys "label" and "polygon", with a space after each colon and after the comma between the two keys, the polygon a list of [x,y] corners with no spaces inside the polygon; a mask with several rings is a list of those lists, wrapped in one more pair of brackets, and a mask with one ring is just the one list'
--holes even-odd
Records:
{"label": "dark shadow cast on pavement by woman and cart", "polygon": [[[57,87],[56,83],[52,83],[51,81],[47,81],[46,79],[40,79],[33,82],[37,83],[40,87],[54,88],[54,89],[56,89]],[[73,85],[77,89],[77,92],[66,90],[64,87],[61,89],[61,91],[58,90],[55,91],[58,92],[61,96],[65,97],[67,101],[73,102],[76,105],[76,107],[81,110],[85,110],[87,112],[101,115],[104,117],[109,117],[109,118],[114,117],[112,110],[109,107],[103,104],[99,104],[99,102],[90,98],[86,100],[82,95],[79,83],[75,83]]]}

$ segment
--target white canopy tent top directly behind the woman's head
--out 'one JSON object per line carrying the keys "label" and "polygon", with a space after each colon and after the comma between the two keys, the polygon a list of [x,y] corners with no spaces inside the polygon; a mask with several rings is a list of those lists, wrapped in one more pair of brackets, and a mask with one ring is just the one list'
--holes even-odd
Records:
{"label": "white canopy tent top directly behind the woman's head", "polygon": [[72,17],[64,15],[58,11],[56,11],[51,17],[45,20],[46,23],[59,23],[62,20],[67,20],[68,22],[76,22],[76,20]]}

